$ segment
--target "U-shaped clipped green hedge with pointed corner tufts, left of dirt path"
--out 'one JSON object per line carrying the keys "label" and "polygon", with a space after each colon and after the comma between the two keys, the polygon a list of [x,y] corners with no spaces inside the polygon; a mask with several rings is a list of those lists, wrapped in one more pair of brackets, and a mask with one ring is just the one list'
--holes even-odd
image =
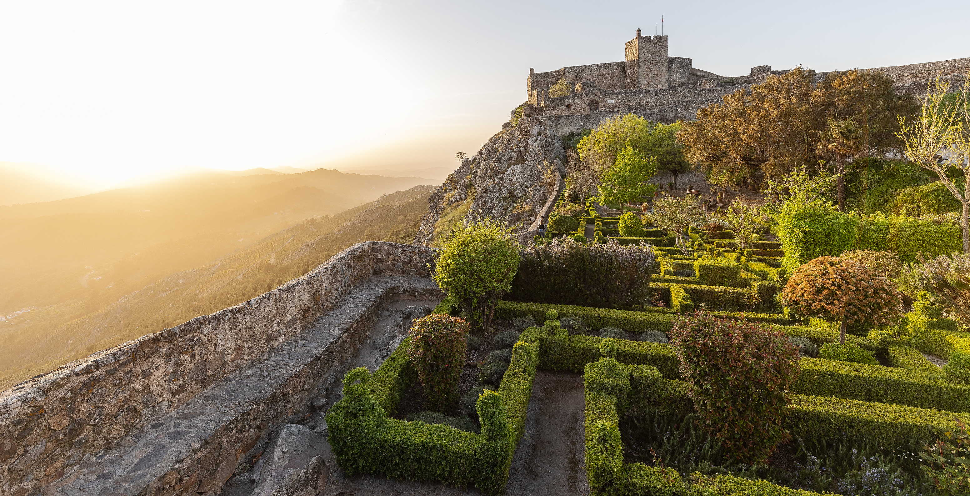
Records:
{"label": "U-shaped clipped green hedge with pointed corner tufts, left of dirt path", "polygon": [[328,441],[340,468],[348,476],[440,481],[501,494],[525,426],[537,349],[528,343],[513,347],[498,393],[487,392],[478,399],[482,429],[473,434],[388,416],[413,373],[401,359],[408,345],[405,340],[373,375],[358,368],[344,378],[344,396],[327,413]]}

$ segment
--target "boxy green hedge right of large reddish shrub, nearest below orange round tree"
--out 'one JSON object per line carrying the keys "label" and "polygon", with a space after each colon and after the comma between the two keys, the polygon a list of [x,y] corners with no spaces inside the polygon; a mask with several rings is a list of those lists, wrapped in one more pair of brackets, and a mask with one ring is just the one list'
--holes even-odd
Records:
{"label": "boxy green hedge right of large reddish shrub, nearest below orange round tree", "polygon": [[[847,400],[970,412],[970,386],[921,371],[802,358],[792,392]],[[939,370],[939,369],[937,369]]]}

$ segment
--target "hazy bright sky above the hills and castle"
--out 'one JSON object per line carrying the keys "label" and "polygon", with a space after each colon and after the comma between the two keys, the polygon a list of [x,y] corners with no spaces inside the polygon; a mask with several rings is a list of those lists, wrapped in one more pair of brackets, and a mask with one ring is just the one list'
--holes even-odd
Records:
{"label": "hazy bright sky above the hills and castle", "polygon": [[670,55],[726,76],[970,56],[966,0],[3,0],[0,161],[105,183],[457,166],[525,101],[530,67],[623,60],[661,16]]}

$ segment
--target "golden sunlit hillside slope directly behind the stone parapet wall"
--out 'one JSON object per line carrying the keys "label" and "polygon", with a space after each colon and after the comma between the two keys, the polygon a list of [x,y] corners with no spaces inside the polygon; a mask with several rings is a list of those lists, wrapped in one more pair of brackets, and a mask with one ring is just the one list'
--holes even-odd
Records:
{"label": "golden sunlit hillside slope directly behind the stone parapet wall", "polygon": [[[337,215],[301,221],[209,263],[114,291],[102,289],[101,303],[53,302],[13,323],[0,323],[0,390],[95,350],[242,303],[360,241],[409,243],[433,189],[415,186]],[[200,233],[176,245],[205,245],[207,239]]]}

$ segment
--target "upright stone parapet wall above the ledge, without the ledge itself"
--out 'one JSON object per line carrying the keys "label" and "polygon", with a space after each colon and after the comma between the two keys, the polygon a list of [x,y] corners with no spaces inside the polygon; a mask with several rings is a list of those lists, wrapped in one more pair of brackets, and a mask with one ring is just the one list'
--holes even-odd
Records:
{"label": "upright stone parapet wall above the ledge, without the ledge itself", "polygon": [[[85,455],[116,445],[216,381],[265,360],[354,285],[377,275],[428,277],[435,253],[359,243],[241,305],[94,353],[0,393],[0,489],[27,494],[58,479]],[[207,448],[221,446],[202,451]],[[202,451],[198,457],[210,456]]]}

